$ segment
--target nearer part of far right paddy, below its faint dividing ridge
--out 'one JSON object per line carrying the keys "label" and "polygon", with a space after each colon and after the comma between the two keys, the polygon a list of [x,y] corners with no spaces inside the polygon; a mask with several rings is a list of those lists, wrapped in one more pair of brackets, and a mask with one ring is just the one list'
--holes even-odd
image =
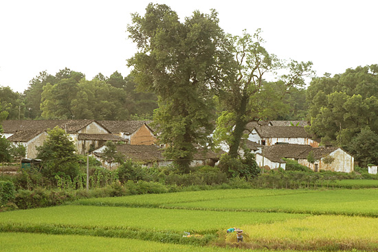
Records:
{"label": "nearer part of far right paddy, below its faint dividing ridge", "polygon": [[225,211],[265,211],[302,214],[344,214],[378,217],[378,194],[375,189],[324,190],[309,194],[227,198],[214,201],[168,204],[179,209]]}

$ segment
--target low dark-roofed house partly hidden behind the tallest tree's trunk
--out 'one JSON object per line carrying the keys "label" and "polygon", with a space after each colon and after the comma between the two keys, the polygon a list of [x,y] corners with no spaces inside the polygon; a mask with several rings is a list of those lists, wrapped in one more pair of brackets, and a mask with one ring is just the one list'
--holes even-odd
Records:
{"label": "low dark-roofed house partly hidden behind the tallest tree's trunk", "polygon": [[[96,157],[98,161],[102,163],[102,166],[110,170],[118,168],[118,163],[107,163],[102,158],[102,152],[106,146],[102,146],[97,150],[94,150],[91,153],[92,157]],[[166,166],[173,164],[173,160],[166,160],[162,153],[164,148],[155,145],[143,146],[143,145],[130,145],[130,144],[118,144],[116,146],[118,153],[124,156],[124,159],[131,159],[134,162],[141,163],[146,167],[151,167],[153,165],[157,166]],[[190,166],[199,166],[199,165],[210,165],[214,166],[220,159],[221,154],[224,152],[212,152],[208,150],[207,152],[197,152],[194,154],[194,158]]]}

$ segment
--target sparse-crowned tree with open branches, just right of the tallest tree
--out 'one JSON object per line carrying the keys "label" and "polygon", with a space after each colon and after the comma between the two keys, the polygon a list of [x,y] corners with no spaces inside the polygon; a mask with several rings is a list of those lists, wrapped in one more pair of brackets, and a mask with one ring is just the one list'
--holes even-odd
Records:
{"label": "sparse-crowned tree with open branches, just right of the tallest tree", "polygon": [[[241,139],[249,122],[274,119],[287,106],[282,102],[285,93],[304,85],[304,76],[312,73],[311,62],[291,60],[285,64],[263,47],[257,30],[254,36],[232,37],[232,52],[237,62],[234,80],[219,91],[223,112],[217,121],[214,137],[229,146],[231,158],[238,157]],[[285,71],[276,82],[266,82],[265,76],[274,71]]]}

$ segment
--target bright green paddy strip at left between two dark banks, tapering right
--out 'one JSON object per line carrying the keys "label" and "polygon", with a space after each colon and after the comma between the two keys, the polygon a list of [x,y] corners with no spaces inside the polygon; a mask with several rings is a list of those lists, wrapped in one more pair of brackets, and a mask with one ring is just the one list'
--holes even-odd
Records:
{"label": "bright green paddy strip at left between two dark banks, tapering right", "polygon": [[0,214],[0,225],[54,226],[76,229],[113,229],[201,235],[231,226],[303,218],[296,214],[267,214],[227,211],[190,211],[128,207],[64,205],[40,209],[8,211]]}

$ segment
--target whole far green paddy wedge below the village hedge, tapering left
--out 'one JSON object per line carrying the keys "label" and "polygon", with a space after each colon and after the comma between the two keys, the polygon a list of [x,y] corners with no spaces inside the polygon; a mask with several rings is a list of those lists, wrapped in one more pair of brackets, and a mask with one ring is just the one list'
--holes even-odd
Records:
{"label": "whole far green paddy wedge below the village hedge, tapering left", "polygon": [[378,194],[362,190],[218,190],[94,198],[79,205],[378,217]]}

